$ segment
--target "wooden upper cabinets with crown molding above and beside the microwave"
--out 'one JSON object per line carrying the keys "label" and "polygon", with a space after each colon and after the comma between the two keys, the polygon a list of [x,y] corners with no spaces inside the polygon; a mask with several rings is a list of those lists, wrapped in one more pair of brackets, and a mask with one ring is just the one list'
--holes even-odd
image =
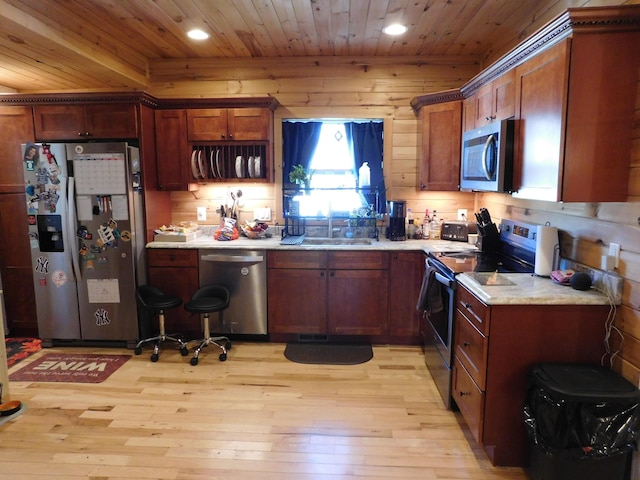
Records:
{"label": "wooden upper cabinets with crown molding above and beside the microwave", "polygon": [[514,116],[518,198],[626,201],[639,71],[640,6],[569,9],[461,88],[465,130]]}

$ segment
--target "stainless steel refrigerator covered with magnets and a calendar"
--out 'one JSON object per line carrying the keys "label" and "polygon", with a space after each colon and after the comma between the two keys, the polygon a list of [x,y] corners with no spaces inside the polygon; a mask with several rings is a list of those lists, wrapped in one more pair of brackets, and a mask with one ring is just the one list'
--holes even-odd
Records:
{"label": "stainless steel refrigerator covered with magnets and a calendar", "polygon": [[44,345],[138,338],[143,283],[139,151],[126,143],[22,146],[38,334]]}

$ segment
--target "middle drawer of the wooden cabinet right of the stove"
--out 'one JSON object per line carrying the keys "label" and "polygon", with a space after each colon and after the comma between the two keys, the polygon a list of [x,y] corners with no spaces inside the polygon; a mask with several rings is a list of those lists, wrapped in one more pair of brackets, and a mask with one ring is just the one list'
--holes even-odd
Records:
{"label": "middle drawer of the wooden cabinet right of the stove", "polygon": [[485,389],[489,342],[459,310],[456,312],[456,356],[480,387]]}

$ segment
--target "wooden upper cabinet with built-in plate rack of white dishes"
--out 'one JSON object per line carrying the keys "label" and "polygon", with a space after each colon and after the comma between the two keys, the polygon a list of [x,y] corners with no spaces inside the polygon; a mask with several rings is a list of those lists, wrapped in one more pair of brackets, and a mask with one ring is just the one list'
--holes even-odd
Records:
{"label": "wooden upper cabinet with built-in plate rack of white dishes", "polygon": [[273,181],[277,105],[272,97],[163,101],[156,111],[158,188]]}

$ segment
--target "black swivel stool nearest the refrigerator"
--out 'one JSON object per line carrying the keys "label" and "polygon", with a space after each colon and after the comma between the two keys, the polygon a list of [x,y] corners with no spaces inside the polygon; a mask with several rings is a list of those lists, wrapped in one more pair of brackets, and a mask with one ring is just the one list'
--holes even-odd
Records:
{"label": "black swivel stool nearest the refrigerator", "polygon": [[159,288],[151,285],[140,285],[136,289],[136,299],[138,304],[147,310],[152,315],[158,315],[159,333],[155,337],[145,338],[140,340],[135,348],[135,354],[140,355],[142,353],[142,345],[145,343],[153,342],[153,353],[151,354],[151,361],[157,362],[159,357],[160,345],[163,342],[169,341],[179,345],[180,354],[185,357],[189,354],[187,343],[181,338],[169,336],[165,333],[164,328],[164,311],[169,308],[176,308],[182,305],[182,299],[175,295],[167,295]]}

